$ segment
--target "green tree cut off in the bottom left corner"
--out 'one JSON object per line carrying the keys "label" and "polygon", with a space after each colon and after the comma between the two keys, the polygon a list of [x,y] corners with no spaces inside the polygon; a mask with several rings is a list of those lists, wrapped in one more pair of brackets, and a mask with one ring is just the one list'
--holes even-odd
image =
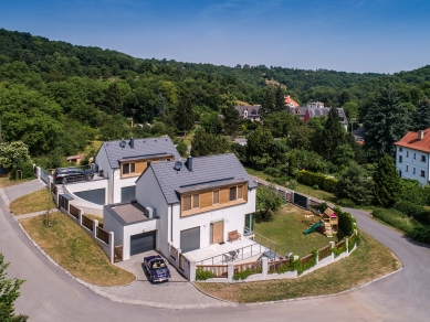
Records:
{"label": "green tree cut off in the bottom left corner", "polygon": [[15,315],[13,302],[19,298],[19,289],[24,280],[17,278],[7,279],[6,269],[9,267],[4,262],[4,256],[0,254],[0,321],[2,322],[24,322],[29,319],[27,315]]}

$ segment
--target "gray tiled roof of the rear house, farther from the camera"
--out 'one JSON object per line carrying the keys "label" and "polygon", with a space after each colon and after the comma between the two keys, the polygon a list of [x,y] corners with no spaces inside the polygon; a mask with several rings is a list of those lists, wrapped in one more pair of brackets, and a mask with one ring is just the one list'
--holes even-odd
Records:
{"label": "gray tiled roof of the rear house, farther from the camera", "polygon": [[126,140],[127,143],[124,148],[119,146],[120,140],[106,141],[102,144],[101,149],[106,150],[112,169],[119,168],[119,160],[133,160],[136,157],[145,159],[167,154],[175,155],[175,160],[180,160],[180,155],[169,137],[135,139],[134,148],[130,147],[129,141],[129,139]]}

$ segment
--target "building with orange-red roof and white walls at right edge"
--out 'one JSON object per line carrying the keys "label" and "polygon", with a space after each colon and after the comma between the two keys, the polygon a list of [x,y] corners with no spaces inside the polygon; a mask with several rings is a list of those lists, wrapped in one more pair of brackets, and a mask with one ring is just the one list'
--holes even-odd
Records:
{"label": "building with orange-red roof and white walls at right edge", "polygon": [[422,185],[430,181],[430,128],[408,132],[396,146],[396,168],[401,178],[416,179]]}

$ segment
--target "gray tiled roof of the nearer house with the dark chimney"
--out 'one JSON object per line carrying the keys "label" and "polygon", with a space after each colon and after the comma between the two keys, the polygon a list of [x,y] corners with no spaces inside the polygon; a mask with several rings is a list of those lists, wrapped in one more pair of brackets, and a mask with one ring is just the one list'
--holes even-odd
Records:
{"label": "gray tiled roof of the nearer house with the dark chimney", "polygon": [[188,171],[186,165],[176,171],[172,162],[151,163],[150,167],[168,204],[179,203],[176,191],[192,184],[218,181],[221,185],[232,179],[241,179],[248,181],[249,187],[256,187],[233,153],[192,158],[192,171]]}

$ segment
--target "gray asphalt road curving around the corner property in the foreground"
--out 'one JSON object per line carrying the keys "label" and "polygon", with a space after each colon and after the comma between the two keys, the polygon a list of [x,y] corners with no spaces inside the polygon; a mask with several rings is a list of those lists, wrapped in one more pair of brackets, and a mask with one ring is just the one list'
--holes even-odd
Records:
{"label": "gray asphalt road curving around the corner property in the foreground", "polygon": [[403,269],[352,292],[301,301],[192,310],[112,302],[48,261],[22,234],[4,203],[0,205],[0,253],[11,262],[9,277],[27,280],[15,308],[30,321],[430,321],[429,247],[408,240],[365,212],[348,211],[360,229],[396,253]]}

